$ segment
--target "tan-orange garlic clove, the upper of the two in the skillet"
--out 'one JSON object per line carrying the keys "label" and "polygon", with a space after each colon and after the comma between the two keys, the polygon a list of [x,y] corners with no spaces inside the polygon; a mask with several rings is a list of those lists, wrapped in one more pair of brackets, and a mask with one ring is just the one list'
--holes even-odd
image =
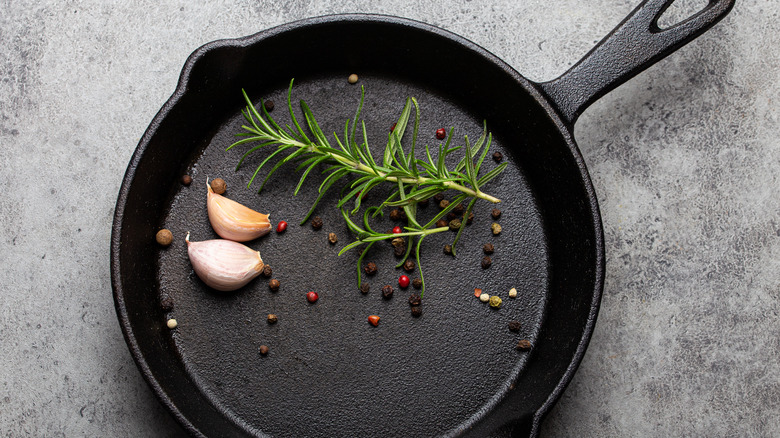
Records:
{"label": "tan-orange garlic clove, the upper of the two in the skillet", "polygon": [[209,222],[220,237],[236,242],[247,242],[271,231],[271,222],[267,214],[258,213],[232,199],[214,193],[208,181],[206,186],[208,187],[206,205]]}

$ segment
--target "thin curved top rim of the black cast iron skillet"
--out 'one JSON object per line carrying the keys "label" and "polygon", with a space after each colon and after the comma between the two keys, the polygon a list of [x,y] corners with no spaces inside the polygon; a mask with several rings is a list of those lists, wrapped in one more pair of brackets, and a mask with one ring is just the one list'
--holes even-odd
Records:
{"label": "thin curved top rim of the black cast iron skillet", "polygon": [[[184,66],[182,67],[182,71],[179,75],[179,80],[176,89],[171,94],[171,96],[166,100],[166,102],[163,104],[163,106],[160,108],[157,114],[154,116],[151,123],[146,128],[143,136],[141,137],[138,145],[136,146],[135,151],[133,152],[133,155],[125,171],[125,175],[123,176],[122,185],[119,189],[119,195],[114,209],[114,220],[112,225],[111,251],[110,251],[111,284],[112,284],[113,295],[114,295],[114,306],[117,312],[122,334],[125,338],[125,343],[128,345],[131,356],[133,357],[136,366],[138,366],[139,370],[141,371],[144,380],[146,380],[147,384],[152,389],[152,392],[155,394],[157,399],[163,404],[163,406],[166,407],[166,409],[173,415],[173,417],[177,420],[177,422],[189,433],[193,434],[194,436],[205,436],[195,426],[195,424],[191,422],[182,413],[182,411],[173,402],[171,397],[167,394],[167,392],[163,389],[163,387],[159,384],[157,379],[154,377],[151,367],[149,366],[146,358],[144,357],[144,354],[141,351],[138,339],[135,333],[133,332],[132,326],[130,324],[129,313],[123,295],[122,276],[120,270],[121,261],[119,257],[120,246],[121,246],[120,235],[122,230],[122,221],[125,213],[125,207],[128,201],[130,187],[132,185],[133,180],[136,177],[137,167],[141,161],[141,158],[144,156],[146,152],[150,140],[156,135],[156,132],[160,124],[168,116],[170,110],[174,106],[176,106],[176,104],[180,101],[180,99],[187,93],[189,81],[191,79],[194,66],[201,58],[204,57],[206,53],[221,48],[225,48],[225,47],[246,48],[254,44],[257,44],[265,39],[289,31],[293,31],[296,29],[301,29],[301,28],[306,28],[306,27],[311,27],[311,26],[316,26],[321,24],[346,23],[346,22],[370,22],[370,23],[377,23],[377,24],[390,24],[395,26],[413,28],[424,32],[429,32],[439,37],[443,37],[455,44],[458,44],[464,49],[474,52],[480,57],[485,58],[487,61],[498,66],[502,71],[504,71],[512,79],[514,79],[514,81],[518,85],[523,87],[525,91],[528,92],[534,98],[534,100],[543,108],[545,113],[548,115],[548,117],[550,117],[551,121],[558,128],[558,131],[560,132],[562,139],[566,142],[566,145],[568,146],[572,154],[572,157],[576,162],[576,165],[580,171],[581,179],[582,182],[584,183],[584,187],[590,202],[589,207],[592,213],[593,227],[595,231],[594,249],[596,250],[596,254],[594,257],[595,278],[594,278],[594,287],[593,287],[593,295],[592,295],[593,298],[590,305],[590,311],[587,318],[587,323],[585,324],[584,330],[582,332],[582,337],[580,338],[580,341],[577,344],[577,348],[574,351],[571,360],[569,361],[569,365],[566,368],[566,371],[561,376],[561,379],[558,381],[554,390],[549,394],[549,396],[544,401],[544,403],[533,414],[533,419],[531,422],[531,436],[536,436],[539,433],[539,429],[543,418],[546,416],[546,414],[549,412],[552,406],[555,405],[555,403],[563,394],[563,391],[571,382],[574,373],[576,372],[577,368],[579,367],[584,357],[585,351],[588,347],[588,344],[593,334],[593,330],[595,328],[596,317],[598,315],[601,296],[603,293],[603,283],[604,283],[604,274],[605,274],[605,256],[604,256],[605,251],[604,251],[603,226],[601,222],[601,214],[599,212],[598,201],[595,195],[595,190],[593,188],[593,184],[590,179],[590,175],[587,171],[587,167],[585,166],[585,162],[581,155],[581,152],[577,147],[576,143],[574,142],[573,132],[572,132],[573,127],[569,126],[563,121],[562,117],[559,114],[558,109],[550,101],[550,99],[541,91],[538,84],[526,79],[514,68],[509,66],[506,62],[504,62],[503,60],[501,60],[500,58],[498,58],[496,55],[492,54],[485,48],[477,45],[476,43],[460,35],[457,35],[453,32],[450,32],[448,30],[441,29],[433,25],[421,21],[408,19],[408,18],[391,16],[391,15],[383,15],[383,14],[362,14],[362,13],[333,14],[333,15],[324,15],[324,16],[318,16],[312,18],[305,18],[290,23],[282,24],[279,26],[275,26],[244,37],[215,40],[200,46],[189,55],[189,57],[184,63]],[[498,400],[495,399],[491,400],[491,402],[485,405],[485,407],[488,407],[489,409],[481,409],[480,411],[475,412],[470,418],[468,418],[464,423],[462,423],[462,425],[469,426],[478,423],[487,415],[488,412],[490,412],[492,408],[495,407],[497,402]],[[214,407],[217,410],[222,411],[222,409],[219,406],[214,406]],[[231,421],[235,422],[235,420],[237,419],[231,417]],[[247,428],[245,426],[246,425],[242,425],[240,427],[246,430]],[[458,428],[457,430],[457,432],[464,432],[464,431],[465,429],[461,429],[461,428]]]}

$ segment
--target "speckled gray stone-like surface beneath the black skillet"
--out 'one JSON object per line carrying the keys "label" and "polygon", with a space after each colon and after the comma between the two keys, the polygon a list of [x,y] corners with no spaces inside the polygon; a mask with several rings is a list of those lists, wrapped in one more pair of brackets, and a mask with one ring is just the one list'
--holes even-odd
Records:
{"label": "speckled gray stone-like surface beneath the black skillet", "polygon": [[[182,434],[127,351],[108,256],[125,167],[195,48],[379,12],[452,30],[547,80],[638,0],[114,3],[0,1],[3,435]],[[682,16],[704,3],[675,6]],[[778,12],[737,0],[578,121],[606,286],[543,436],[780,434]]]}

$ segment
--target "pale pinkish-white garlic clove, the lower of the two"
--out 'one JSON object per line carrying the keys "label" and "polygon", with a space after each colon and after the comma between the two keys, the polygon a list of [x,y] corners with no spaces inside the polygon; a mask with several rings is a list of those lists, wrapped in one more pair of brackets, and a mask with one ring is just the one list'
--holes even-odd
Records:
{"label": "pale pinkish-white garlic clove, the lower of the two", "polygon": [[236,290],[263,271],[260,252],[238,242],[224,239],[190,242],[190,233],[184,240],[195,273],[216,290]]}

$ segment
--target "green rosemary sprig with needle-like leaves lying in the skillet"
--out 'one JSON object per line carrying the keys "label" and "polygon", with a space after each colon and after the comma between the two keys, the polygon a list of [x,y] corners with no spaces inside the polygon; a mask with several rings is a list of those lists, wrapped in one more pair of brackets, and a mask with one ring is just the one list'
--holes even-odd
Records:
{"label": "green rosemary sprig with needle-like leaves lying in the skillet", "polygon": [[[326,176],[320,183],[318,196],[301,221],[301,224],[305,223],[309,217],[311,217],[325,193],[334,184],[348,176],[356,177],[344,186],[337,207],[340,209],[350,230],[356,234],[356,240],[345,246],[339,252],[339,255],[360,246],[361,244],[367,244],[367,247],[363,250],[358,259],[358,287],[360,286],[360,268],[362,260],[368,252],[368,249],[375,242],[396,237],[408,237],[409,244],[407,246],[406,254],[398,264],[398,266],[401,266],[410,256],[411,248],[416,239],[416,245],[414,245],[416,249],[415,258],[417,259],[417,266],[420,269],[420,277],[422,279],[419,251],[423,238],[430,234],[448,229],[447,227],[433,228],[436,221],[444,217],[460,202],[471,199],[468,208],[466,209],[466,213],[463,216],[461,227],[453,242],[454,255],[455,243],[457,243],[460,238],[466,224],[466,219],[468,218],[474,203],[478,199],[484,199],[493,203],[500,202],[498,198],[481,190],[481,187],[498,176],[507,166],[507,163],[502,163],[481,177],[479,176],[480,167],[492,141],[492,136],[487,132],[486,124],[483,127],[482,135],[474,145],[471,145],[468,137],[466,137],[465,146],[451,147],[450,144],[453,138],[453,130],[450,129],[446,141],[440,144],[438,150],[435,151],[435,158],[431,148],[426,145],[426,159],[418,159],[416,157],[416,148],[417,134],[420,125],[420,109],[417,100],[410,97],[406,100],[406,104],[401,111],[395,128],[388,135],[387,144],[385,145],[381,160],[377,161],[371,153],[368,144],[365,122],[362,120],[358,122],[365,99],[365,89],[363,86],[360,87],[360,103],[357,111],[355,112],[353,119],[347,120],[344,126],[343,138],[339,138],[336,133],[333,134],[335,145],[328,141],[328,138],[314,118],[311,109],[303,100],[301,100],[301,110],[311,138],[306,135],[306,132],[304,132],[301,127],[301,124],[295,116],[295,111],[293,110],[292,87],[293,81],[291,80],[287,91],[287,107],[293,127],[287,125],[284,128],[268,114],[268,111],[265,109],[265,105],[263,105],[262,102],[260,104],[262,114],[260,114],[257,111],[257,108],[252,104],[249,96],[242,90],[244,99],[247,103],[246,109],[242,110],[242,114],[248,124],[242,126],[245,132],[237,134],[242,138],[230,145],[227,149],[230,150],[233,147],[243,144],[257,143],[241,157],[236,166],[236,170],[238,170],[244,160],[252,153],[267,146],[276,147],[276,150],[269,154],[260,165],[257,166],[252,178],[249,180],[247,186],[252,185],[260,170],[268,165],[269,162],[277,156],[282,157],[278,159],[273,167],[271,167],[271,170],[268,171],[258,192],[262,191],[270,177],[280,167],[287,163],[299,162],[296,170],[303,170],[294,191],[295,195],[298,194],[304,181],[315,167],[319,165],[327,166],[325,170],[322,171]],[[412,111],[414,111],[413,119]],[[407,152],[404,150],[401,140],[408,128],[410,119],[413,120],[414,123],[412,126],[411,148]],[[360,125],[361,128],[360,137],[356,137],[358,125]],[[461,149],[465,149],[463,157],[454,168],[448,169],[445,164],[446,158],[453,152]],[[476,163],[474,162],[475,157],[478,157]],[[383,183],[391,183],[395,189],[390,192],[389,196],[387,196],[381,205],[367,208],[364,212],[364,227],[358,226],[351,220],[350,215],[360,211],[362,201],[366,195],[375,187],[384,185]],[[420,224],[417,220],[417,203],[446,190],[455,190],[460,192],[460,194],[453,199],[449,207],[443,209],[425,224]],[[347,212],[345,206],[352,200],[354,200],[354,206]],[[382,209],[384,207],[403,208],[407,217],[405,232],[401,234],[388,234],[377,233],[371,229],[368,224],[369,214],[372,214],[373,216],[380,215],[382,214]]]}

